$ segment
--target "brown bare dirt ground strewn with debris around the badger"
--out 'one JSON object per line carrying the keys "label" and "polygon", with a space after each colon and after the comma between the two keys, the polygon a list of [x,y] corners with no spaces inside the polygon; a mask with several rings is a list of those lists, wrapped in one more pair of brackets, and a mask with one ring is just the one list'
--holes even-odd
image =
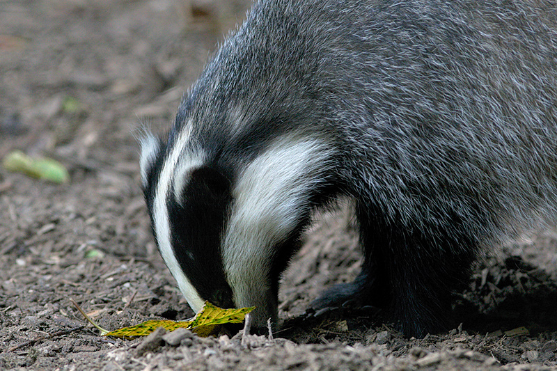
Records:
{"label": "brown bare dirt ground strewn with debris around the badger", "polygon": [[[400,336],[373,308],[305,313],[359,270],[350,207],[319,217],[281,287],[283,330],[120,340],[193,313],[150,235],[133,131],[167,128],[239,1],[0,1],[0,157],[61,161],[57,185],[0,169],[0,369],[557,370],[557,234],[510,242],[456,293],[455,329]],[[462,325],[458,326],[462,322]]]}

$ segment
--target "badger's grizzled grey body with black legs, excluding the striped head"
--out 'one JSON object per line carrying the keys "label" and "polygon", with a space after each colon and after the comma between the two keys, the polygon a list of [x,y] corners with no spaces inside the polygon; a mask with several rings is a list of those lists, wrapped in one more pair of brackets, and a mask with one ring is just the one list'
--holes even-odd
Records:
{"label": "badger's grizzled grey body with black legs, excluding the striped head", "polygon": [[324,197],[308,203],[356,199],[366,263],[319,303],[386,290],[423,335],[480,248],[556,221],[556,106],[554,1],[263,0],[183,100],[168,148],[191,123],[234,184],[278,137],[325,138]]}

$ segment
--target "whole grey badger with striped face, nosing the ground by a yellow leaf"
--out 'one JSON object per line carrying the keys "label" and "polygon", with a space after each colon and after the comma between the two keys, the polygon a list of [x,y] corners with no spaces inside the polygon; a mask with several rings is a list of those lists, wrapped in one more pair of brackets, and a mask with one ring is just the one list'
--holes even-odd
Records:
{"label": "whole grey badger with striped face, nosing the ground by a yellow leaf", "polygon": [[141,140],[152,230],[189,306],[256,306],[320,207],[354,203],[361,273],[313,308],[444,331],[473,261],[557,219],[553,0],[260,0]]}

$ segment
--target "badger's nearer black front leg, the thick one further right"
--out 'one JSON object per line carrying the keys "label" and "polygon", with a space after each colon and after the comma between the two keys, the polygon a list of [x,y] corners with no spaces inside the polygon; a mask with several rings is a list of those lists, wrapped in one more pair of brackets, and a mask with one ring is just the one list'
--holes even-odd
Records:
{"label": "badger's nearer black front leg, the thick one further right", "polygon": [[392,292],[388,310],[407,336],[423,337],[450,328],[452,294],[466,282],[476,257],[476,244],[465,233],[425,231],[432,235],[393,228],[386,246]]}

